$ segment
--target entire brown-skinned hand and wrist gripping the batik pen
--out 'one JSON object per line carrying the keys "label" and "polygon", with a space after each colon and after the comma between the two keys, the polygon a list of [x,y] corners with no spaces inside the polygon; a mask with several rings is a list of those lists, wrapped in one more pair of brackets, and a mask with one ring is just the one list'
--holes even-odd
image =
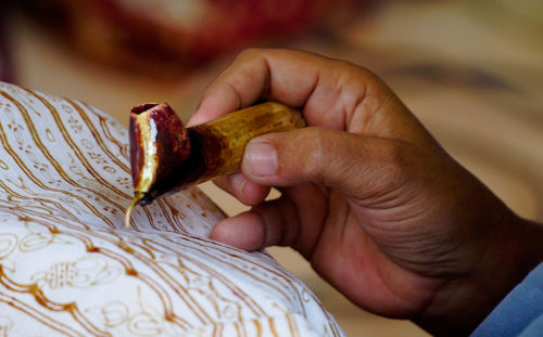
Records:
{"label": "entire brown-skinned hand and wrist gripping the batik pen", "polygon": [[[212,238],[291,246],[361,308],[443,336],[469,334],[542,261],[542,225],[510,211],[367,69],[247,50],[189,125],[258,100],[300,108],[310,127],[251,140],[241,171],[216,183],[253,207]],[[270,186],[281,197],[264,202]]]}

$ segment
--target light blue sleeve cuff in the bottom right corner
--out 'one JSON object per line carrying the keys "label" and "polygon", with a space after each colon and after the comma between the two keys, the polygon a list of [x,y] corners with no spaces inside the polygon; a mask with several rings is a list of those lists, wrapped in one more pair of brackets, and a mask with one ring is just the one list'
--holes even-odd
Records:
{"label": "light blue sleeve cuff in the bottom right corner", "polygon": [[471,336],[543,336],[543,263],[502,300]]}

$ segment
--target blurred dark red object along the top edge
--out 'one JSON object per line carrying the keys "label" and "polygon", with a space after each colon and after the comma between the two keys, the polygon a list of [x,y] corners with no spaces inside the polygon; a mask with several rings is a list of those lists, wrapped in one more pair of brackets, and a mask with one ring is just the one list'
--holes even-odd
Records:
{"label": "blurred dark red object along the top edge", "polygon": [[359,0],[25,0],[71,44],[114,65],[187,69],[313,27]]}

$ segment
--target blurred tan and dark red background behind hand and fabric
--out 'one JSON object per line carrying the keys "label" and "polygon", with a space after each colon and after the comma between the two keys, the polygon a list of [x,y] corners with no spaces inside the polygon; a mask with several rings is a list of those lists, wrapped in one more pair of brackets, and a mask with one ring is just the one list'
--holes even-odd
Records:
{"label": "blurred tan and dark red background behind hand and fabric", "polygon": [[[0,78],[86,101],[127,124],[167,101],[184,120],[248,46],[308,50],[381,76],[443,146],[523,217],[543,220],[540,0],[24,0],[0,3]],[[245,209],[211,183],[229,215]],[[295,252],[299,275],[348,336],[425,336],[375,316]]]}

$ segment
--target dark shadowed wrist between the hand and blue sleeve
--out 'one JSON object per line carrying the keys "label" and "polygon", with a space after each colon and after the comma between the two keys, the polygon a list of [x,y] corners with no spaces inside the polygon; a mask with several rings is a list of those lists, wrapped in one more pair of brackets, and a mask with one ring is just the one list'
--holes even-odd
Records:
{"label": "dark shadowed wrist between the hand and blue sleeve", "polygon": [[493,224],[473,268],[445,283],[415,323],[434,335],[469,335],[543,260],[542,224],[510,211]]}

